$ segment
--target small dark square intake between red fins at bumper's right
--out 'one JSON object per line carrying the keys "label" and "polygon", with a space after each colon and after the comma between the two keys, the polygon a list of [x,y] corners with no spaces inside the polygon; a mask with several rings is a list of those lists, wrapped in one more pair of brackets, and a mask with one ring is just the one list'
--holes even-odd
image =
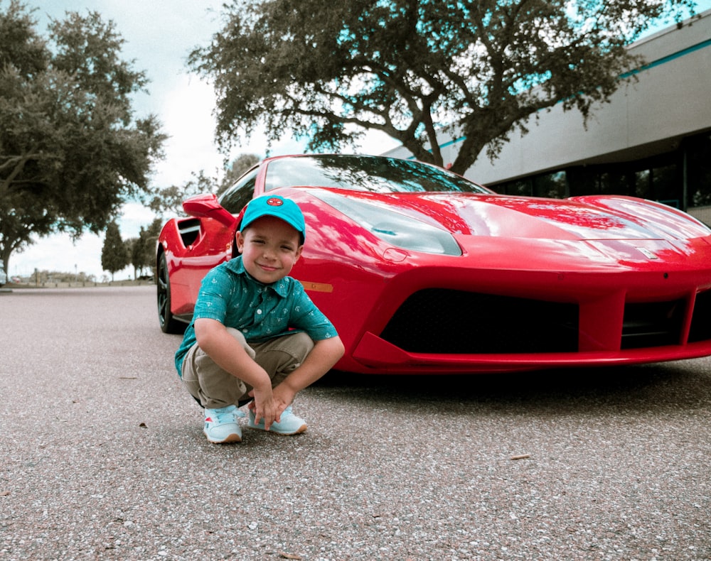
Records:
{"label": "small dark square intake between red fins at bumper's right", "polygon": [[680,344],[684,300],[627,303],[622,323],[622,349]]}

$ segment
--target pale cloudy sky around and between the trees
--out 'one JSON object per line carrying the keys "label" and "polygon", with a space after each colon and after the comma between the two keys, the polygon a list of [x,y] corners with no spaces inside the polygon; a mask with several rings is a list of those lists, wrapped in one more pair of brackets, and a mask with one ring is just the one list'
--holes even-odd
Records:
{"label": "pale cloudy sky around and between the trees", "polygon": [[[220,30],[220,8],[225,0],[25,0],[36,7],[38,31],[46,36],[49,18],[63,19],[66,11],[86,15],[96,11],[111,20],[124,38],[124,59],[134,60],[134,69],[143,70],[151,82],[150,94],[138,94],[134,109],[137,116],[156,114],[169,135],[164,148],[166,158],[157,163],[153,184],[159,187],[183,185],[191,173],[205,170],[208,176],[220,175],[223,156],[214,142],[215,119],[213,89],[197,75],[188,72],[186,58],[196,46],[207,45]],[[697,2],[697,11],[711,8],[711,0]],[[385,135],[368,134],[363,151],[383,153],[397,143]],[[236,146],[232,156],[255,153],[266,156],[267,143],[262,134]],[[286,138],[270,148],[272,155],[301,153],[304,146]],[[153,222],[154,214],[138,203],[124,205],[119,219],[123,239],[139,235],[141,227]],[[102,280],[101,249],[104,236],[84,234],[73,242],[69,234],[55,234],[37,239],[22,253],[10,257],[9,276],[29,276],[40,271],[75,272]],[[133,277],[133,268],[115,273],[115,280]]]}

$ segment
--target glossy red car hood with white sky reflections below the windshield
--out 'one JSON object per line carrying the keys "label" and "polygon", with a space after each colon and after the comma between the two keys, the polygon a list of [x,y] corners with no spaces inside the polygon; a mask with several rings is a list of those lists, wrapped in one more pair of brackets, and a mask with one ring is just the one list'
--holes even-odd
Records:
{"label": "glossy red car hood with white sky reflections below the windshield", "polygon": [[557,240],[685,240],[711,230],[683,212],[634,197],[565,200],[475,193],[376,194],[339,190],[451,234]]}

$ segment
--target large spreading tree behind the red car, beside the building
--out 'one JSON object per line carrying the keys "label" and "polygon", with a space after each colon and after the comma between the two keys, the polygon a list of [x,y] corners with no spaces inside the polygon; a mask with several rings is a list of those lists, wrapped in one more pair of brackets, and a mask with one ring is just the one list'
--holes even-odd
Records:
{"label": "large spreading tree behind the red car, beside the building", "polygon": [[309,149],[383,131],[442,165],[437,134],[464,137],[452,170],[542,109],[584,119],[640,60],[626,50],[692,0],[235,0],[191,69],[215,85],[220,148],[260,124]]}

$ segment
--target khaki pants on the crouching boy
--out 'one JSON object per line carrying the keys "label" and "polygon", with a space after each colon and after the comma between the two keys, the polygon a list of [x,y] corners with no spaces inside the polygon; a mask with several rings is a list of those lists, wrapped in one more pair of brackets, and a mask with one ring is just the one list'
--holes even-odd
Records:
{"label": "khaki pants on the crouching boy", "polygon": [[[314,348],[311,337],[304,332],[284,335],[265,343],[247,344],[238,329],[228,327],[227,330],[247,354],[267,371],[269,378],[272,378],[272,388],[289,376]],[[183,383],[204,408],[243,405],[252,399],[248,395],[252,386],[221,369],[198,344],[191,347],[183,360]]]}

